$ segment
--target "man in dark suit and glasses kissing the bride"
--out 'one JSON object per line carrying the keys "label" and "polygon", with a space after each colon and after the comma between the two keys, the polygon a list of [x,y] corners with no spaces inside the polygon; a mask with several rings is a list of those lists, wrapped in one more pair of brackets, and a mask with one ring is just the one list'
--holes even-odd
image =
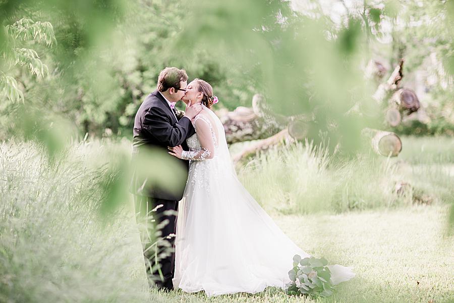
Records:
{"label": "man in dark suit and glasses kissing the bride", "polygon": [[[189,105],[186,107],[185,116],[178,120],[174,105],[185,95],[187,80],[188,75],[185,70],[175,67],[163,69],[159,74],[157,89],[145,98],[134,120],[131,192],[134,194],[136,214],[139,213],[140,217],[145,218],[146,225],[150,224],[150,221],[146,219],[150,215],[156,221],[155,224],[162,223],[161,225],[164,226],[160,229],[161,238],[176,233],[178,201],[183,197],[185,184],[174,184],[174,180],[181,176],[176,176],[176,172],[172,171],[167,171],[166,180],[161,180],[172,183],[172,190],[169,190],[168,186],[158,186],[157,182],[151,184],[148,176],[141,171],[153,171],[157,168],[143,167],[144,163],[141,163],[139,159],[150,150],[153,151],[153,155],[161,153],[162,157],[159,160],[165,159],[165,163],[183,168],[183,171],[186,172],[183,179],[186,181],[189,163],[168,155],[167,146],[182,145],[184,149],[188,150],[186,139],[195,133],[191,121],[202,110],[200,104]],[[154,163],[159,161],[154,160]],[[169,178],[173,174],[175,177]],[[160,205],[162,207],[158,207]],[[156,211],[150,213],[156,208]],[[165,220],[168,220],[166,225]],[[158,268],[156,268],[153,262],[156,248],[148,249],[154,242],[150,238],[150,234],[153,234],[153,228],[141,233],[147,276],[159,276],[160,279],[156,282],[159,288],[173,289],[175,253],[159,260]],[[170,236],[167,243],[173,247],[175,237]],[[164,241],[159,244],[161,247],[158,246],[158,250],[168,246]],[[151,252],[153,255],[150,256]],[[157,255],[159,254],[160,252],[157,252]]]}

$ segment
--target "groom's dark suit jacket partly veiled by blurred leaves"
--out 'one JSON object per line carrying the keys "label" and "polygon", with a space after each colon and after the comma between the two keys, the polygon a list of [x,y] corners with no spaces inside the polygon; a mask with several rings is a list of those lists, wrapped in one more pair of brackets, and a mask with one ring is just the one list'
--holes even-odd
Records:
{"label": "groom's dark suit jacket partly veiled by blurred leaves", "polygon": [[[157,90],[150,93],[140,106],[134,119],[131,193],[164,200],[181,200],[188,178],[189,161],[169,155],[167,146],[182,145],[184,150],[188,150],[186,139],[194,133],[192,122],[187,117],[177,121],[164,97]],[[138,161],[138,159],[142,159],[150,150],[154,151],[154,155],[156,155],[156,151],[162,154],[162,157],[169,161],[167,163],[172,162],[174,165],[183,168],[184,176],[177,176],[177,172],[174,171],[165,171],[166,180],[161,180],[161,182],[170,184],[172,189],[164,189],[153,180],[149,180],[146,175],[140,173],[144,169],[144,163],[140,163],[141,161]],[[158,159],[154,160],[159,161]],[[156,170],[158,167],[159,163],[154,162],[154,167],[145,167],[145,169],[152,172],[151,170]],[[159,176],[160,173],[154,171],[152,175]],[[172,176],[175,176],[175,178],[172,178]],[[178,179],[181,182],[175,183],[175,180]],[[184,183],[182,183],[183,180]]]}

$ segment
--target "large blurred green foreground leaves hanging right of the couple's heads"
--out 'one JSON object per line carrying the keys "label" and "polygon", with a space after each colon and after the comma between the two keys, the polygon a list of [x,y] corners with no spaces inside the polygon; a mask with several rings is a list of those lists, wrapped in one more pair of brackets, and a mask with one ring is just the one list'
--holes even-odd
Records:
{"label": "large blurred green foreground leaves hanging right of the couple's heads", "polygon": [[[289,2],[200,0],[193,6],[200,9],[186,16],[175,42],[185,58],[209,49],[209,58],[228,63],[238,71],[236,77],[251,80],[275,112],[312,116],[311,139],[321,140],[322,131],[333,145],[342,141],[346,151],[358,148],[359,131],[375,119],[345,117],[358,102],[370,107],[372,94],[359,67],[366,55],[359,20],[351,18],[330,33],[324,19],[303,17]],[[375,19],[380,12],[372,11]],[[361,97],[352,98],[352,91]]]}

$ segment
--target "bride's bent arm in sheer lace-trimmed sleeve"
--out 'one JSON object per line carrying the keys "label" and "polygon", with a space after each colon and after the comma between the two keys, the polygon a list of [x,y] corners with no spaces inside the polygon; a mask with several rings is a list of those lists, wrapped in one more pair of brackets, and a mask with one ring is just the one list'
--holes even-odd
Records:
{"label": "bride's bent arm in sheer lace-trimmed sleeve", "polygon": [[210,121],[206,117],[199,114],[194,118],[193,124],[201,147],[198,150],[191,151],[183,150],[183,153],[181,154],[182,159],[184,160],[212,159],[214,157],[214,142],[211,133]]}

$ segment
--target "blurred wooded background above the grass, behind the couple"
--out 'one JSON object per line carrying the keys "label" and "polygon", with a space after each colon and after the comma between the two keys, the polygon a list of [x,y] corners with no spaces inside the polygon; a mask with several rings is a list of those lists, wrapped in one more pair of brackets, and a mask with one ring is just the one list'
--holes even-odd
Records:
{"label": "blurred wooded background above the grass, behind the couple", "polygon": [[[0,140],[54,148],[87,133],[131,138],[135,113],[166,66],[213,85],[226,132],[252,129],[231,142],[288,127],[349,153],[365,128],[454,135],[452,1],[0,6]],[[262,101],[255,107],[254,95]]]}

